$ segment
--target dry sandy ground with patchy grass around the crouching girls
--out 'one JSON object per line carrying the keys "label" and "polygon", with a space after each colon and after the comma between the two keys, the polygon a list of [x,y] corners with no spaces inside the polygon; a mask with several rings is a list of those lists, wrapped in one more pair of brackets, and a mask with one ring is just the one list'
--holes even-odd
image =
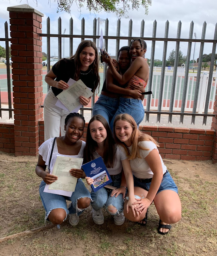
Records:
{"label": "dry sandy ground with patchy grass around the crouching girls", "polygon": [[[35,174],[37,157],[0,152],[0,237],[44,226],[44,208]],[[182,219],[166,236],[157,233],[159,216],[149,207],[145,227],[125,220],[115,226],[104,212],[95,225],[91,209],[76,227],[66,220],[56,227],[0,243],[0,256],[9,255],[217,255],[217,165],[211,161],[164,160],[179,188]],[[47,224],[50,225],[50,224]]]}

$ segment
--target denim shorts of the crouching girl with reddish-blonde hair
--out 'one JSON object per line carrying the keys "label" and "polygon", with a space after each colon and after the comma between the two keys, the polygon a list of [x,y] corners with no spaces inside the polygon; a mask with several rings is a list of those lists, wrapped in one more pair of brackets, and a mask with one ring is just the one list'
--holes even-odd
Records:
{"label": "denim shorts of the crouching girl with reddish-blonde hair", "polygon": [[[149,191],[150,186],[151,186],[151,182],[149,182],[149,183],[140,182],[137,179],[135,179],[135,176],[134,176],[134,187],[141,187],[141,188]],[[168,170],[167,170],[167,172],[165,172],[165,174],[163,176],[163,179],[162,179],[162,181],[160,183],[160,187],[159,187],[159,189],[157,191],[157,194],[160,191],[163,191],[163,190],[173,190],[177,194],[179,194],[178,193],[178,188],[175,185],[175,182],[173,181],[173,179],[172,179],[172,177],[171,177],[171,175],[170,175]]]}

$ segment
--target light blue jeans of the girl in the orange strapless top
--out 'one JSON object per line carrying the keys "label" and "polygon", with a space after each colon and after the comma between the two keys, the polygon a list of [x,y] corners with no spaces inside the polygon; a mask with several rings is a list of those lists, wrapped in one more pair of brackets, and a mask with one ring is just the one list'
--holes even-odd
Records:
{"label": "light blue jeans of the girl in the orange strapless top", "polygon": [[117,112],[114,114],[110,124],[110,127],[113,131],[113,123],[114,123],[114,118],[115,116],[119,114],[129,114],[131,115],[134,120],[136,121],[137,126],[142,122],[144,118],[144,107],[142,105],[141,100],[137,99],[128,99],[128,98],[120,98],[119,100],[119,108]]}

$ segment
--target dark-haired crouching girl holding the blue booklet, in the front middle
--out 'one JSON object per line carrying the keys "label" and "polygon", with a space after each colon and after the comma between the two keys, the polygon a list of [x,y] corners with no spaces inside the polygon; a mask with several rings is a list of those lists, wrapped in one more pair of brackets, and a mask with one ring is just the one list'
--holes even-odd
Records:
{"label": "dark-haired crouching girl holding the blue booklet, in the front middle", "polygon": [[[131,207],[132,214],[135,213],[133,205],[136,202],[134,198],[134,183],[129,160],[120,146],[115,144],[111,129],[106,119],[101,115],[95,115],[91,118],[87,129],[87,140],[84,148],[84,162],[89,162],[102,156],[107,170],[111,176],[112,183],[109,185],[117,187],[115,190],[110,190],[105,187],[98,191],[91,192],[93,221],[95,224],[103,224],[104,217],[102,208],[106,207],[107,211],[113,215],[114,223],[122,225],[125,217],[123,215],[124,197],[126,187],[130,190],[129,201],[126,205],[128,209]],[[122,172],[122,167],[123,171]],[[126,179],[125,179],[126,177]],[[127,182],[126,182],[127,180]],[[93,179],[86,177],[88,185],[93,184]]]}

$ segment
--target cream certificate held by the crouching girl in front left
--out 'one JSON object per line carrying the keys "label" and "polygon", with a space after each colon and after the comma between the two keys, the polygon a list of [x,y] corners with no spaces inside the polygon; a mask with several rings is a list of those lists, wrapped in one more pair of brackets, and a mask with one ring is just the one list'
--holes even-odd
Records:
{"label": "cream certificate held by the crouching girl in front left", "polygon": [[57,156],[50,174],[58,176],[58,180],[50,185],[46,184],[44,192],[70,197],[75,191],[77,178],[72,176],[69,170],[72,168],[80,169],[82,162],[83,158]]}

